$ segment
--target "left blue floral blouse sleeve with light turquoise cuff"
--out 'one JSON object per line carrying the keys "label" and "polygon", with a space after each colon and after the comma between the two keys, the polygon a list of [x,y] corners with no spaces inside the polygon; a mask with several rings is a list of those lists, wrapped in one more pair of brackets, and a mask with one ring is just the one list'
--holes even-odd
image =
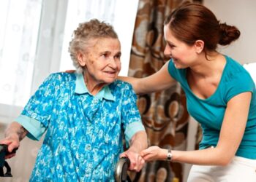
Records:
{"label": "left blue floral blouse sleeve with light turquoise cuff", "polygon": [[53,114],[58,88],[58,74],[51,74],[31,96],[20,116],[15,119],[29,131],[29,138],[39,140]]}

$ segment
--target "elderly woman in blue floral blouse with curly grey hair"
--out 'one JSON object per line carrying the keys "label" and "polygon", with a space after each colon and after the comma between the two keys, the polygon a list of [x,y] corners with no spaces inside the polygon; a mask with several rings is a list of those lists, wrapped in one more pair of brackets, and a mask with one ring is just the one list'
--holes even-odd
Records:
{"label": "elderly woman in blue floral blouse with curly grey hair", "polygon": [[124,136],[129,149],[121,156],[129,157],[129,170],[139,171],[146,132],[131,85],[116,80],[116,32],[98,20],[81,23],[69,52],[77,70],[45,79],[0,143],[12,151],[25,136],[39,140],[46,132],[31,181],[114,181]]}

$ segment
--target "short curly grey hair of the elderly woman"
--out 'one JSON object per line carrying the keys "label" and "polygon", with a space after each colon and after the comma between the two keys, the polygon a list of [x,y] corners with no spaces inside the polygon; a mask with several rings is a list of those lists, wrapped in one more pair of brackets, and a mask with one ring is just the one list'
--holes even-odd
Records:
{"label": "short curly grey hair of the elderly woman", "polygon": [[118,39],[118,36],[112,25],[99,22],[97,19],[80,23],[78,28],[73,32],[73,38],[69,42],[69,52],[73,65],[78,73],[83,73],[83,67],[80,66],[77,59],[78,52],[85,52],[86,46],[89,46],[90,41],[98,38]]}

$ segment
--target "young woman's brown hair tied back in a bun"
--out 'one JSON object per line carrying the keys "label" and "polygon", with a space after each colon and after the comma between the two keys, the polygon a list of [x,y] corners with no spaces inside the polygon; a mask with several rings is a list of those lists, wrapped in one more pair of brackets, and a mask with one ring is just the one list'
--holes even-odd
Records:
{"label": "young woman's brown hair tied back in a bun", "polygon": [[200,4],[178,7],[166,17],[164,24],[177,39],[189,45],[196,40],[204,41],[206,54],[216,50],[217,44],[230,44],[240,36],[236,26],[219,23],[214,13]]}

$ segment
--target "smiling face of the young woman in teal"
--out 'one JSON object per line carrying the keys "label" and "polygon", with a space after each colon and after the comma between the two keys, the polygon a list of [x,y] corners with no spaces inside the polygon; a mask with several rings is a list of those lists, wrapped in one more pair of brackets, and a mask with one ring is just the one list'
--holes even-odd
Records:
{"label": "smiling face of the young woman in teal", "polygon": [[195,60],[197,60],[195,47],[176,39],[170,31],[170,28],[168,28],[168,25],[164,27],[164,36],[166,41],[164,54],[172,58],[176,68],[188,68],[193,66]]}

